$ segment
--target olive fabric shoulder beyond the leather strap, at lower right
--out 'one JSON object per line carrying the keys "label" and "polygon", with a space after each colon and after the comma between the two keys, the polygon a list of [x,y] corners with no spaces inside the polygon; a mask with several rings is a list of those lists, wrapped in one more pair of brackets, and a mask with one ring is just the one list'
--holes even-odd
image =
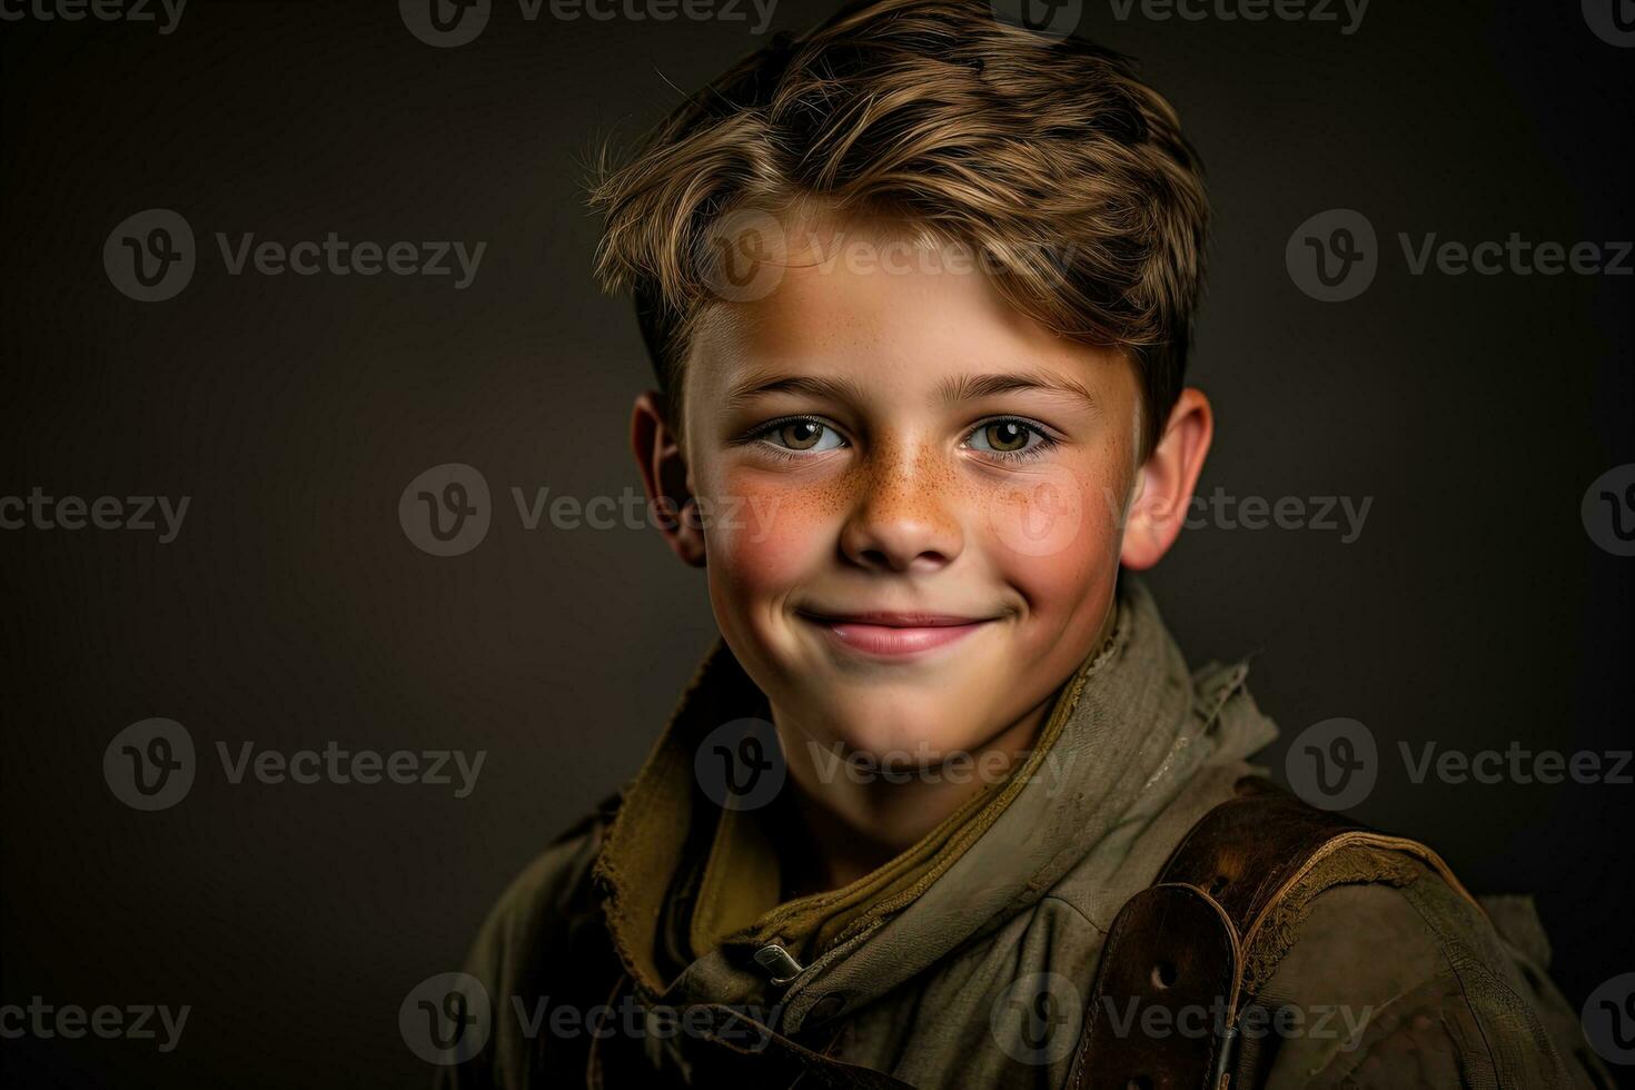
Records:
{"label": "olive fabric shoulder beyond the leather strap, at lower right", "polygon": [[1301,887],[1256,989],[1277,1048],[1244,1041],[1265,1085],[1588,1085],[1545,964],[1445,871],[1359,845]]}

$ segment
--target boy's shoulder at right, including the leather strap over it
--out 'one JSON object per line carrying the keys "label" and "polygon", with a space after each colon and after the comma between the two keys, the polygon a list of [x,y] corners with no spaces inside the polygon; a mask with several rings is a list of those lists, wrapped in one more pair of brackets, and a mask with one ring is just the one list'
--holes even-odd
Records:
{"label": "boy's shoulder at right, including the leather strap over it", "polygon": [[1238,933],[1234,1085],[1588,1085],[1537,918],[1535,941],[1506,936],[1414,840],[1248,778],[1164,878]]}

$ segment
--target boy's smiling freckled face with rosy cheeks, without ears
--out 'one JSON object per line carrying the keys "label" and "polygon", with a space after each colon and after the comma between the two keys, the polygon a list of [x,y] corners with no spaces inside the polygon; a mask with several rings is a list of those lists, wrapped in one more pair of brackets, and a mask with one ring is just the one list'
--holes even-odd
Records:
{"label": "boy's smiling freckled face with rosy cheeks, without ears", "polygon": [[785,744],[925,765],[1025,719],[1102,637],[1141,395],[1127,358],[948,250],[842,242],[865,240],[873,263],[795,253],[713,309],[679,458],[716,621]]}

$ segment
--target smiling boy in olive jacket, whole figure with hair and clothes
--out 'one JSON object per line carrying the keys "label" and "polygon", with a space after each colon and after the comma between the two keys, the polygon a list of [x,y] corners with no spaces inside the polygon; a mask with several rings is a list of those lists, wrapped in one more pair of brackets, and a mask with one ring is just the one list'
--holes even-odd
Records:
{"label": "smiling boy in olive jacket, whole figure with hair and clothes", "polygon": [[1210,446],[1208,204],[1122,59],[853,7],[594,201],[662,382],[643,480],[723,639],[495,907],[450,1085],[1586,1080],[1542,956],[1429,850],[1265,788],[1244,667],[1190,673],[1130,575]]}

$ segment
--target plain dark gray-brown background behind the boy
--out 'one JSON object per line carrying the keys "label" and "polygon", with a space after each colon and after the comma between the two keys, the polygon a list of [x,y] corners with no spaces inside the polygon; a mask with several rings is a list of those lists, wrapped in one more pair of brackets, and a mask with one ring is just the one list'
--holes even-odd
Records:
{"label": "plain dark gray-brown background behind the boy", "polygon": [[[510,876],[629,776],[713,636],[657,534],[525,531],[508,489],[638,487],[647,379],[589,276],[584,160],[759,46],[742,23],[562,23],[500,0],[432,49],[392,3],[203,3],[150,26],[0,28],[0,494],[186,494],[180,538],[3,531],[0,1002],[191,1005],[181,1046],[3,1041],[7,1085],[417,1085],[404,994],[458,966]],[[775,29],[826,3],[785,0]],[[1635,52],[1578,3],[1375,0],[1333,23],[1118,23],[1208,167],[1218,229],[1194,377],[1202,489],[1373,497],[1362,538],[1198,529],[1153,575],[1189,654],[1256,652],[1283,726],[1382,748],[1628,748],[1630,564],[1579,500],[1635,461],[1632,279],[1411,276],[1398,230],[1635,237]],[[108,232],[181,212],[199,270],[113,289]],[[1385,248],[1346,304],[1283,247],[1354,208]],[[489,243],[476,283],[229,276],[213,232]],[[397,498],[469,462],[476,551],[433,559]],[[203,757],[139,814],[101,755],[150,716]],[[226,783],[214,742],[484,748],[476,793]],[[1630,786],[1416,786],[1360,815],[1478,891],[1532,891],[1573,1003],[1635,969]]]}

